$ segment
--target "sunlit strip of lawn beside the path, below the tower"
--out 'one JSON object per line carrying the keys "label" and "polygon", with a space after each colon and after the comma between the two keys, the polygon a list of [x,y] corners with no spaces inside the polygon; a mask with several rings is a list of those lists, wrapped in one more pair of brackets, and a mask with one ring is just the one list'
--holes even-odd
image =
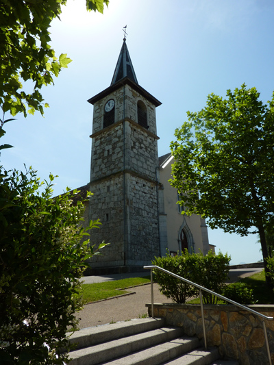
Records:
{"label": "sunlit strip of lawn beside the path, below the tower", "polygon": [[121,294],[127,294],[126,289],[131,286],[138,286],[150,282],[150,277],[129,277],[121,280],[104,281],[103,283],[83,284],[81,296],[84,304],[92,303],[93,301],[101,301],[111,297],[117,297]]}

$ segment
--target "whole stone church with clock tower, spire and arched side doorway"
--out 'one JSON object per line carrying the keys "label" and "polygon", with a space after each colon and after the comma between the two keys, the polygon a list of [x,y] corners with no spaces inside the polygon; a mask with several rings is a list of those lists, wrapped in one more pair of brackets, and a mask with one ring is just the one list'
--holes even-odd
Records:
{"label": "whole stone church with clock tower, spire and arched side doorway", "polygon": [[138,84],[126,39],[111,84],[88,99],[93,105],[90,184],[86,220],[100,219],[91,244],[110,245],[90,260],[93,272],[134,272],[154,257],[203,254],[213,249],[206,222],[181,214],[169,184],[173,156],[158,156],[155,109],[161,102]]}

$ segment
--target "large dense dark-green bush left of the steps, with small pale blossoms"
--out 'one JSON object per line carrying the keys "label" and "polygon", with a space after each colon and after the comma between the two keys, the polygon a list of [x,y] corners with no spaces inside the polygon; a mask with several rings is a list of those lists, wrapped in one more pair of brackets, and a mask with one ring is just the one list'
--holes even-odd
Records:
{"label": "large dense dark-green bush left of the steps, with small pale blossoms", "polygon": [[99,221],[84,229],[82,201],[73,204],[69,191],[53,199],[52,175],[44,190],[42,185],[32,170],[0,168],[1,364],[67,360],[62,348],[81,309],[79,278],[86,258],[98,253],[88,232]]}

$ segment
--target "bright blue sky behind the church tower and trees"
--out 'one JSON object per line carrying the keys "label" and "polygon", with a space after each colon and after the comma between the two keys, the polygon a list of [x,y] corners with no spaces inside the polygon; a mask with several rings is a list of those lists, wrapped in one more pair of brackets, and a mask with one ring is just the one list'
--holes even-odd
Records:
{"label": "bright blue sky behind the church tower and trees", "polygon": [[[169,152],[174,131],[188,110],[206,105],[211,93],[255,86],[262,101],[274,90],[273,0],[110,0],[104,14],[86,12],[84,0],[68,0],[53,21],[56,54],[73,60],[42,90],[45,116],[16,116],[6,125],[5,168],[59,175],[55,194],[88,183],[92,105],[87,100],[110,86],[127,25],[127,47],[140,86],[162,102],[157,108],[159,155]],[[210,243],[232,264],[262,259],[258,238],[209,230]]]}

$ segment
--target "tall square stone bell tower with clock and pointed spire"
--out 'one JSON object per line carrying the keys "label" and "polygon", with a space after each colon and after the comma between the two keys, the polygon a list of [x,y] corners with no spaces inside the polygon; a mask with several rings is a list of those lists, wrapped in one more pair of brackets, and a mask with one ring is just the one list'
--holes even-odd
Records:
{"label": "tall square stone bell tower with clock and pointed spire", "polygon": [[88,102],[94,105],[90,219],[102,223],[91,243],[111,243],[92,258],[92,268],[136,270],[160,255],[155,108],[161,103],[138,84],[125,38],[110,86]]}

